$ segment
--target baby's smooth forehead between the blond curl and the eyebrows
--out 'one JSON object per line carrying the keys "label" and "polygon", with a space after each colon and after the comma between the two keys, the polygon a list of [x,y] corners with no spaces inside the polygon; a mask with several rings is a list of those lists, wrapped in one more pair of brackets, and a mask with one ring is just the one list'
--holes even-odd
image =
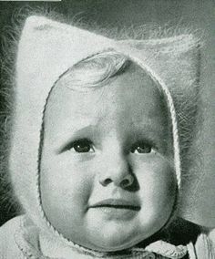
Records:
{"label": "baby's smooth forehead between the blond curl and the eyebrows", "polygon": [[87,91],[73,90],[72,86],[68,88],[69,82],[64,82],[64,77],[60,80],[46,109],[46,121],[52,125],[52,131],[56,130],[54,125],[73,129],[95,125],[105,130],[118,126],[149,129],[150,126],[156,128],[166,124],[167,111],[158,87],[136,65],[106,86]]}

